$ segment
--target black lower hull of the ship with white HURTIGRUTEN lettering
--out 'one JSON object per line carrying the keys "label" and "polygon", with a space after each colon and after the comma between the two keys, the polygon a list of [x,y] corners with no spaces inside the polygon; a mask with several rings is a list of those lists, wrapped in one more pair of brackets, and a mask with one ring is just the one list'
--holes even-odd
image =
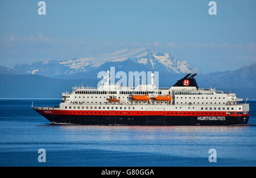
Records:
{"label": "black lower hull of the ship with white HURTIGRUTEN lettering", "polygon": [[52,124],[76,125],[235,125],[247,124],[249,116],[86,116],[43,115]]}

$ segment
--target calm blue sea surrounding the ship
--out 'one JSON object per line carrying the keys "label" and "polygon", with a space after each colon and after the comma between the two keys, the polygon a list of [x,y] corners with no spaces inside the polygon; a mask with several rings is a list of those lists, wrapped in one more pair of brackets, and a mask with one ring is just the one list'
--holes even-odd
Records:
{"label": "calm blue sea surrounding the ship", "polygon": [[[0,166],[256,166],[256,100],[246,126],[49,125],[32,101],[60,103],[0,100]],[[39,149],[46,163],[38,162]]]}

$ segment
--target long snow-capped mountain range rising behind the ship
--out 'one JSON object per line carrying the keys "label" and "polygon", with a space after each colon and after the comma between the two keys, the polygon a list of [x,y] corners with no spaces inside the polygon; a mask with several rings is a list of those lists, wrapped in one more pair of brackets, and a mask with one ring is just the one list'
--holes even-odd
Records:
{"label": "long snow-capped mountain range rising behind the ship", "polygon": [[[150,49],[123,49],[113,53],[72,60],[48,60],[22,63],[14,69],[5,69],[15,74],[37,74],[51,78],[83,79],[97,77],[99,71],[159,71],[160,74],[199,73],[199,69],[187,61],[179,61],[168,53],[151,53]],[[1,73],[1,71],[0,71]]]}

